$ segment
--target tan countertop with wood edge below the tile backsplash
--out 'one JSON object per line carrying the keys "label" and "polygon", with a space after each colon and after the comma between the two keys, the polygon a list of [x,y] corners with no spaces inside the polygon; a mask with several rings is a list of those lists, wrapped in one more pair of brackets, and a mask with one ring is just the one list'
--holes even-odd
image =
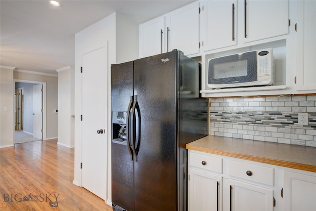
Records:
{"label": "tan countertop with wood edge below the tile backsplash", "polygon": [[209,135],[186,145],[187,149],[316,172],[316,147]]}

